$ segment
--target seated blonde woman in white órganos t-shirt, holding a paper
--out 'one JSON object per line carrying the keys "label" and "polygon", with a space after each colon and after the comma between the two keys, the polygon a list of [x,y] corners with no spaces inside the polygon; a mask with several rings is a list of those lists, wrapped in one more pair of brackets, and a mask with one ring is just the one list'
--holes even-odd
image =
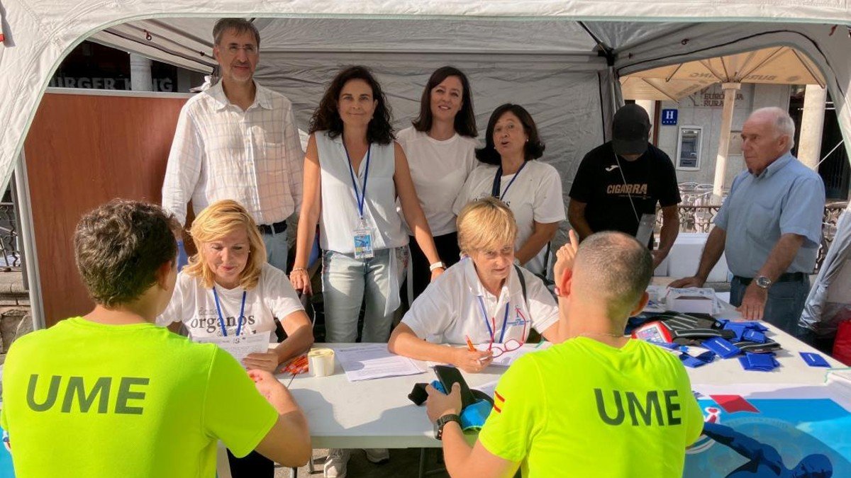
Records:
{"label": "seated blonde woman in white \u00f3rganos t-shirt, holding a paper", "polygon": [[[310,349],[313,330],[298,295],[282,270],[266,263],[266,246],[248,211],[236,201],[214,202],[192,222],[197,254],[177,276],[174,295],[157,323],[183,322],[190,338],[228,350],[233,338],[276,342],[275,318],[287,339],[267,352],[250,353],[246,368],[274,373],[278,365]],[[222,407],[238,404],[221,404]],[[275,475],[274,463],[251,452],[236,458],[228,450],[233,478]]]}

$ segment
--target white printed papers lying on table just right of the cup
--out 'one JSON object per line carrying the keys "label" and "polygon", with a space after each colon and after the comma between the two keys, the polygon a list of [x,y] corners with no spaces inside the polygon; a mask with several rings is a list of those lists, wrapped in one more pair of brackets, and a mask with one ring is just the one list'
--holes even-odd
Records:
{"label": "white printed papers lying on table just right of the cup", "polygon": [[392,354],[386,344],[358,345],[335,351],[350,382],[426,373],[408,357]]}

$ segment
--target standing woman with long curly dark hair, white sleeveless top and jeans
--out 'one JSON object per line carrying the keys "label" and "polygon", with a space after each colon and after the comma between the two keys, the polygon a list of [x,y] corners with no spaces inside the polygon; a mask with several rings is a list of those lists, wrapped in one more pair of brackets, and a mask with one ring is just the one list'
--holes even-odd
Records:
{"label": "standing woman with long curly dark hair, white sleeveless top and jeans", "polygon": [[[417,243],[435,264],[431,279],[443,272],[390,121],[384,93],[363,66],[340,71],[311,118],[289,280],[296,290],[311,293],[306,267],[318,221],[328,342],[357,339],[357,317],[364,302],[362,341],[386,342],[390,335],[408,262],[408,235],[396,211],[397,198]],[[377,463],[389,454],[368,450],[367,458]],[[345,476],[347,461],[347,451],[332,450],[325,476]]]}

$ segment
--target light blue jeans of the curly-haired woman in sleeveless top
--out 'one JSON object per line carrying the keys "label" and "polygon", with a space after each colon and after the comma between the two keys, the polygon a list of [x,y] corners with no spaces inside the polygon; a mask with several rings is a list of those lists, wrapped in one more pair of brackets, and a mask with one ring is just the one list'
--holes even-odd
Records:
{"label": "light blue jeans of the curly-haired woman in sleeveless top", "polygon": [[390,339],[393,312],[399,306],[399,285],[408,267],[408,247],[375,251],[371,259],[354,254],[323,253],[325,340],[354,342],[357,316],[365,302],[362,342]]}

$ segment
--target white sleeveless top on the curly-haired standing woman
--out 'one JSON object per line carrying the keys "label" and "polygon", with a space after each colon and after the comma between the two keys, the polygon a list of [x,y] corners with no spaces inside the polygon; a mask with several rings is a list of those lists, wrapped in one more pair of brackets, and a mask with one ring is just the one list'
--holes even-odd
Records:
{"label": "white sleeveless top on the curly-haired standing woman", "polygon": [[[319,217],[319,245],[323,250],[354,253],[354,230],[360,224],[357,195],[351,184],[349,160],[343,147],[342,135],[328,138],[327,131],[315,134],[321,169],[322,213]],[[363,191],[367,161],[363,156],[355,171],[357,190]],[[402,220],[396,212],[396,154],[393,143],[370,145],[369,176],[363,219],[372,230],[373,249],[400,248],[408,244]]]}

